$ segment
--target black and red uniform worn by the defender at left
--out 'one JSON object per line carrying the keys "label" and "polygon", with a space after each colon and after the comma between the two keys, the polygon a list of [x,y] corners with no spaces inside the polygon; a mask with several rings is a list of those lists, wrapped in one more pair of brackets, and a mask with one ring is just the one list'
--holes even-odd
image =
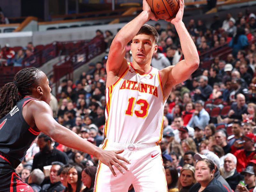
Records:
{"label": "black and red uniform worn by the defender at left", "polygon": [[35,99],[19,100],[10,113],[0,119],[0,192],[35,191],[15,173],[40,133],[31,128],[22,115],[22,108],[30,100]]}

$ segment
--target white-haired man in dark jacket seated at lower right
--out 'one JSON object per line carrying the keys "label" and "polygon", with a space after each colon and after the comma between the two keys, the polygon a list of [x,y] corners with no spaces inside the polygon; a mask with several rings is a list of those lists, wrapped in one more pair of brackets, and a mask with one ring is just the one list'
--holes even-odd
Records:
{"label": "white-haired man in dark jacket seated at lower right", "polygon": [[238,183],[244,179],[244,176],[236,171],[236,156],[228,153],[224,156],[224,179],[228,182],[231,189],[235,191]]}

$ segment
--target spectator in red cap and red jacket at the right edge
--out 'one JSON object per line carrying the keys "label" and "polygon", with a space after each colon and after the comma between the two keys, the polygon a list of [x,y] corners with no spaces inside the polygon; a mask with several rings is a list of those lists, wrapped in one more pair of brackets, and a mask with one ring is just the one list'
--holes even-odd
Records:
{"label": "spectator in red cap and red jacket at the right edge", "polygon": [[[242,172],[246,165],[253,159],[256,154],[254,143],[256,137],[253,133],[247,133],[242,136],[244,142],[244,149],[237,150],[234,155],[237,158],[236,170]],[[232,146],[233,147],[233,146]]]}

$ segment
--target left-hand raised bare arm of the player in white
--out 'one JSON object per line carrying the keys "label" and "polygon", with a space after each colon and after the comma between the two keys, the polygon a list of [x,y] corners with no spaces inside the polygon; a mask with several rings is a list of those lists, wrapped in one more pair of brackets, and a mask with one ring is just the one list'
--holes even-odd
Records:
{"label": "left-hand raised bare arm of the player in white", "polygon": [[120,71],[125,70],[127,65],[124,62],[125,45],[138,33],[141,26],[149,19],[157,20],[146,0],[143,0],[143,11],[132,21],[127,23],[115,36],[109,49],[107,61],[107,73],[111,71],[113,75],[118,75]]}

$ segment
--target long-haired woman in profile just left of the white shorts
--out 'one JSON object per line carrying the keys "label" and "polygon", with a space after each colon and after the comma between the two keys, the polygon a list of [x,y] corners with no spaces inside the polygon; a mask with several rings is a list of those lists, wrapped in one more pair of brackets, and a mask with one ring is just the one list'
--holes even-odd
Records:
{"label": "long-haired woman in profile just left of the white shorts", "polygon": [[84,183],[84,186],[86,186],[83,192],[93,192],[96,172],[97,167],[95,166],[86,167],[82,171],[82,182]]}

